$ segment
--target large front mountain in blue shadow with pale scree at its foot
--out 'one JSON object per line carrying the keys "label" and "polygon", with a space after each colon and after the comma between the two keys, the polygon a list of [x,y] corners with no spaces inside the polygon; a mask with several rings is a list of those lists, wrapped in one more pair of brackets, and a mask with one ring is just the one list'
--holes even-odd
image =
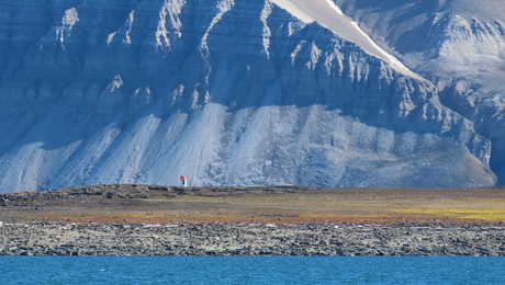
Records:
{"label": "large front mountain in blue shadow with pale scree at its foot", "polygon": [[494,185],[484,107],[458,103],[478,82],[369,2],[0,0],[0,191]]}

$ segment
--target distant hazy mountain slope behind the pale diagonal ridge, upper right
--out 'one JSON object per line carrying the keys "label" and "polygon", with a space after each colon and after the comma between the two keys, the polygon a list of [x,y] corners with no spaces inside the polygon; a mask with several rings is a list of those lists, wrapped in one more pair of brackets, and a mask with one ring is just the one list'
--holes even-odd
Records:
{"label": "distant hazy mountain slope behind the pale diagonal ridge, upper right", "polygon": [[505,5],[500,0],[356,1],[343,9],[429,78],[441,102],[492,141],[491,166],[505,183]]}

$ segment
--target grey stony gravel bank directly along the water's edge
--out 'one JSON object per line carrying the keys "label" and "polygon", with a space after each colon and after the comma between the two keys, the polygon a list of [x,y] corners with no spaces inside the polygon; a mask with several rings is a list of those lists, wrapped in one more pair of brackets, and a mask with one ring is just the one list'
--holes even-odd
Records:
{"label": "grey stony gravel bank directly along the water's edge", "polygon": [[0,224],[0,255],[505,255],[505,227]]}

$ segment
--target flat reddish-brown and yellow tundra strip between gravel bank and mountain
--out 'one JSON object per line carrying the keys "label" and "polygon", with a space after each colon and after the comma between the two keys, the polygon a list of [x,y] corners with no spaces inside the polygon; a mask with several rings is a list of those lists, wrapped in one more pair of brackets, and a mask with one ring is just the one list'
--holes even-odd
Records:
{"label": "flat reddish-brown and yellow tundra strip between gravel bank and mountain", "polygon": [[58,195],[24,193],[4,197],[10,202],[0,204],[0,220],[103,224],[505,223],[505,191],[501,189],[235,187],[182,191],[146,185],[86,189],[89,191],[74,189],[63,190]]}

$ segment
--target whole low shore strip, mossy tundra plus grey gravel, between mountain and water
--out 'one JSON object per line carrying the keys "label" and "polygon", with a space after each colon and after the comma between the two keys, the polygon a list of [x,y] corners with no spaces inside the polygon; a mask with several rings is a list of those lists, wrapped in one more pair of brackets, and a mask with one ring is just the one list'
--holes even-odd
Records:
{"label": "whole low shore strip, mossy tundra plus grey gravel, between mountain and water", "polygon": [[0,255],[505,255],[504,196],[154,185],[0,194]]}

